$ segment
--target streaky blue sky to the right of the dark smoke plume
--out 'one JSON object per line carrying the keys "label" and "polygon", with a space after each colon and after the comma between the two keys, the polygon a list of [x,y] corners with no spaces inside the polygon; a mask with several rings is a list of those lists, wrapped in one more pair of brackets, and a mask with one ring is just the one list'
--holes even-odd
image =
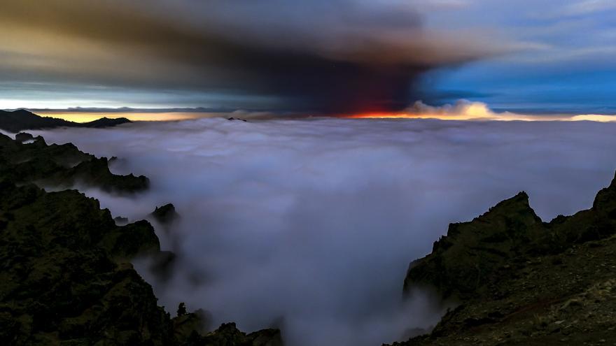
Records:
{"label": "streaky blue sky to the right of the dark smoke plume", "polygon": [[495,109],[616,113],[616,1],[460,3],[430,24],[477,27],[526,48],[437,73],[433,87],[480,94],[470,99]]}

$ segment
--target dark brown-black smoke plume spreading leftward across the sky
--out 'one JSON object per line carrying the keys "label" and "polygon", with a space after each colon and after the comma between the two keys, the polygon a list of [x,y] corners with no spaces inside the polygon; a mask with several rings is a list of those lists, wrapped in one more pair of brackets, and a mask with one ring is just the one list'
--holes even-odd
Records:
{"label": "dark brown-black smoke plume spreading leftward across the sky", "polygon": [[0,76],[400,109],[424,71],[506,49],[423,28],[417,3],[3,0]]}

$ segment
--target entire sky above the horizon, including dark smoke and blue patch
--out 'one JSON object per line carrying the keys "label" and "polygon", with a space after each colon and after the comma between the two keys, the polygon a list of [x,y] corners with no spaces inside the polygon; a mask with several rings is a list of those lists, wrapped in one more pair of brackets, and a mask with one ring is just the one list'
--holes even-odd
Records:
{"label": "entire sky above the horizon, including dark smoke and blue patch", "polygon": [[0,109],[353,115],[468,99],[498,112],[616,113],[611,0],[0,7]]}

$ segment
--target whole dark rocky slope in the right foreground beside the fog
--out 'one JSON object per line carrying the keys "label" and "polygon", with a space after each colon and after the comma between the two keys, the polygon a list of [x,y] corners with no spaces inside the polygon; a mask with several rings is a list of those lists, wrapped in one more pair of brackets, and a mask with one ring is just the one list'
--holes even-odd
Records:
{"label": "whole dark rocky slope in the right foreground beside the fog", "polygon": [[428,336],[395,345],[615,345],[616,178],[591,209],[542,222],[524,193],[451,224],[414,261],[405,294],[458,302]]}

